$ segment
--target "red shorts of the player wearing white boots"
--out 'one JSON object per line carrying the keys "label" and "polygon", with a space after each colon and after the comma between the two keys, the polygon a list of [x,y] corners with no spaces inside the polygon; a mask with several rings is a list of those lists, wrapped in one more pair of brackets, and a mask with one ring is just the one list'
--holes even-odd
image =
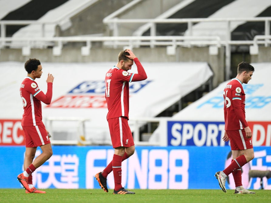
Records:
{"label": "red shorts of the player wearing white boots", "polygon": [[246,132],[242,130],[226,130],[230,139],[231,150],[245,150],[253,148],[251,138],[246,138]]}

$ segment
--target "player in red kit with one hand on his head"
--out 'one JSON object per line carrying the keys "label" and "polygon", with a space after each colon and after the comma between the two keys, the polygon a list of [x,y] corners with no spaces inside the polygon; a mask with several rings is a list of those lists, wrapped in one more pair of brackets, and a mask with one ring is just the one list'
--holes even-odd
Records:
{"label": "player in red kit with one hand on his head", "polygon": [[[136,64],[137,74],[127,72]],[[113,170],[115,187],[113,194],[135,194],[126,190],[121,185],[121,162],[134,154],[134,140],[129,120],[129,82],[146,80],[147,75],[138,58],[130,49],[121,51],[118,55],[118,63],[106,73],[105,98],[107,101],[107,121],[113,148],[115,149],[113,160],[107,167],[95,175],[101,188],[108,192],[106,178]]]}

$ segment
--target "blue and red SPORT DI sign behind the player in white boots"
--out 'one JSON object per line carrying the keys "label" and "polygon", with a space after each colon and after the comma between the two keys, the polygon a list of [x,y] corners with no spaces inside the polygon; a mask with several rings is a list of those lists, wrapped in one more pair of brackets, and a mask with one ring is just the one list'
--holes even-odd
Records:
{"label": "blue and red SPORT DI sign behind the player in white boots", "polygon": [[[271,123],[248,122],[252,131],[253,146],[270,146]],[[168,121],[169,146],[225,146],[224,122]]]}

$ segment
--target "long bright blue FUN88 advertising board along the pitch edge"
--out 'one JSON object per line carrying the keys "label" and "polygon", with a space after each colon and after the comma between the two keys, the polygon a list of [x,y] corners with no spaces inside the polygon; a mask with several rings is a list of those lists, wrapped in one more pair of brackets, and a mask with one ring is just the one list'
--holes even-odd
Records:
{"label": "long bright blue FUN88 advertising board along the pitch edge", "polygon": [[[271,170],[270,147],[255,147],[255,158],[243,169],[243,185],[260,189],[260,179],[248,179],[249,170]],[[1,188],[21,188],[17,175],[23,171],[25,147],[0,147],[0,163],[5,169]],[[53,146],[53,156],[33,173],[36,188],[100,188],[94,175],[113,157],[111,146]],[[37,155],[41,150],[37,149]],[[122,185],[136,189],[219,189],[215,172],[229,163],[230,147],[136,147],[133,156],[122,162]],[[199,181],[200,180],[200,181]],[[107,177],[114,187],[113,173]],[[264,178],[265,189],[271,180]],[[229,176],[227,189],[233,189]]]}

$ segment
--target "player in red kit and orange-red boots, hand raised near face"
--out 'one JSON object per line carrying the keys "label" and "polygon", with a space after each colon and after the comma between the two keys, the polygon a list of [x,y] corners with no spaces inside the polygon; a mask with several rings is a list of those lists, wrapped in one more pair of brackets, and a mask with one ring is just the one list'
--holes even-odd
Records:
{"label": "player in red kit and orange-red boots, hand raised near face", "polygon": [[[29,59],[25,62],[25,70],[27,76],[22,81],[20,88],[24,109],[22,129],[25,133],[25,171],[19,174],[17,178],[25,188],[26,193],[46,193],[33,187],[32,173],[53,154],[49,132],[42,123],[41,101],[46,104],[51,103],[54,77],[48,73],[46,80],[47,93],[44,94],[35,82],[35,79],[40,78],[42,75],[40,61],[38,59]],[[33,161],[38,146],[41,148],[42,153]]]}

